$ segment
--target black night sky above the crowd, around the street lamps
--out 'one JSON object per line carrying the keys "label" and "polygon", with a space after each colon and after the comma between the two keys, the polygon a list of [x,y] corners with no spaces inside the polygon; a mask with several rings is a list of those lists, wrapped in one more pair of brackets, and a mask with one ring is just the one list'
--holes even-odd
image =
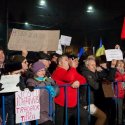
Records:
{"label": "black night sky above the crowd, around the street lamps", "polygon": [[[10,29],[59,29],[62,35],[72,36],[74,46],[99,46],[100,37],[105,48],[120,44],[125,17],[125,0],[0,0],[0,45],[7,48]],[[93,5],[94,13],[87,13]],[[25,26],[28,22],[30,26]]]}

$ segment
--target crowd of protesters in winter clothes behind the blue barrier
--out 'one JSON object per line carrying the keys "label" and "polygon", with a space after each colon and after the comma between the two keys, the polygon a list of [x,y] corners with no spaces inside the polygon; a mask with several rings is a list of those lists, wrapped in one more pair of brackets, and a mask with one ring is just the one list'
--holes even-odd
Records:
{"label": "crowd of protesters in winter clothes behind the blue barrier", "polygon": [[[28,88],[32,92],[35,87],[45,86],[49,90],[53,97],[51,103],[53,103],[55,111],[53,112],[54,119],[49,115],[48,92],[41,89],[39,125],[65,125],[66,105],[68,124],[77,125],[78,88],[80,90],[79,116],[81,125],[123,125],[124,60],[107,62],[105,55],[98,58],[90,55],[83,60],[73,54],[59,55],[44,52],[31,54],[26,50],[23,50],[22,54],[6,56],[4,50],[0,48],[0,76],[8,74],[20,74],[20,82],[17,83],[17,86],[21,91]],[[61,85],[67,85],[67,92]],[[83,85],[89,85],[90,94],[88,94],[88,88]],[[106,87],[108,87],[107,91]],[[3,89],[3,84],[0,83],[0,91]],[[106,96],[105,93],[108,92],[110,94]],[[3,95],[5,96],[6,125],[16,125],[14,92],[0,95],[0,125],[3,122]],[[90,102],[88,102],[88,98],[90,98]],[[90,122],[89,113],[91,115]],[[35,121],[31,121],[29,124],[35,125]]]}

